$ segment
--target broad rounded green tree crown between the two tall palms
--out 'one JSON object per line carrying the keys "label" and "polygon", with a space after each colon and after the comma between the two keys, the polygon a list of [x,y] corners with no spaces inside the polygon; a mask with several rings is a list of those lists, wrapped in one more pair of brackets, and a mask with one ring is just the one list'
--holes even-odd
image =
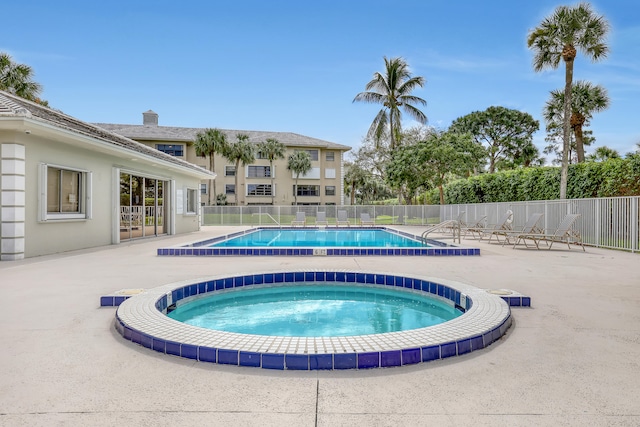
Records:
{"label": "broad rounded green tree crown between the two tall palms", "polygon": [[474,141],[486,147],[489,173],[499,168],[529,166],[539,158],[533,134],[540,124],[530,114],[492,106],[457,118],[449,130],[470,133]]}

